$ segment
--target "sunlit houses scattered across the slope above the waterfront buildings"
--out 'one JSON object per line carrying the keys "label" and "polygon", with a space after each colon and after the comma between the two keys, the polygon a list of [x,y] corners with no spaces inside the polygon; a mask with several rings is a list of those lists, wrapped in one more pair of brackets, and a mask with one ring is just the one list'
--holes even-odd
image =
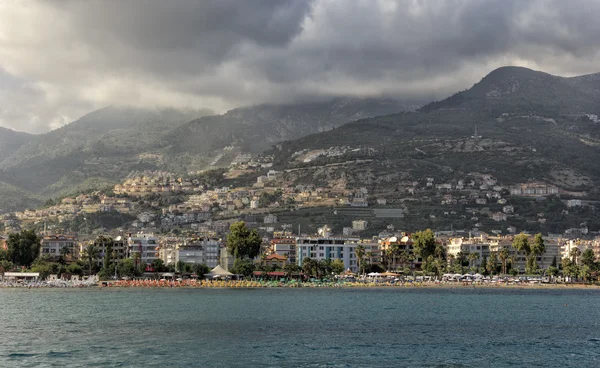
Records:
{"label": "sunlit houses scattered across the slope above the waterfront buildings", "polygon": [[[342,149],[349,150],[332,147],[330,151]],[[306,154],[297,152],[299,159]],[[188,176],[134,172],[110,189],[3,214],[0,231],[35,227],[94,235],[119,228],[124,232],[222,235],[229,224],[243,220],[273,234],[298,225],[316,231],[318,221],[306,223],[303,217],[330,212],[337,219],[320,221],[345,235],[366,232],[373,236],[390,224],[407,231],[431,227],[498,236],[535,231],[582,238],[597,231],[590,230],[586,222],[595,213],[597,201],[585,199],[584,192],[565,191],[552,184],[506,186],[490,174],[473,172],[459,179],[432,175],[398,181],[392,188],[382,189],[355,186],[344,179],[306,182],[299,180],[294,170],[303,169],[277,171],[272,168],[271,157],[240,154],[228,169]],[[350,226],[354,221],[367,225]]]}

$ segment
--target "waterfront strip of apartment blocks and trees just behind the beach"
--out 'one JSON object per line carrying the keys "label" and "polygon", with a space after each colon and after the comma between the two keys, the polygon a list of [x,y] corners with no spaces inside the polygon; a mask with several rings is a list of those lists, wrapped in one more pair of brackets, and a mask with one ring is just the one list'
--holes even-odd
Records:
{"label": "waterfront strip of apartment blocks and trees just behind the beach", "polygon": [[[238,222],[232,225],[231,231],[240,225],[246,228],[245,223]],[[231,243],[228,238],[237,235],[229,231],[223,237],[191,233],[161,236],[142,232],[119,234],[114,238],[112,235],[115,234],[82,240],[76,234],[41,234],[30,269],[42,278],[67,280],[96,277],[96,274],[105,280],[154,278],[169,272],[179,277],[202,277],[210,270],[219,269],[239,277],[283,278],[293,274],[327,277],[332,273],[376,275],[388,272],[397,277],[420,275],[437,279],[449,275],[525,275],[549,281],[557,276],[562,280],[590,280],[597,275],[596,259],[600,259],[600,238],[573,240],[541,234],[496,236],[430,230],[407,233],[392,228],[379,236],[361,238],[334,234],[325,225],[316,234],[298,235],[288,231],[257,237],[257,252],[241,267],[237,263],[241,262],[237,251],[232,251],[228,244]],[[11,263],[9,255],[11,236],[15,234],[0,237],[0,255],[4,257],[2,273],[18,278],[14,273],[18,262]],[[317,265],[315,274],[313,265]],[[320,274],[319,265],[327,271]],[[56,270],[58,274],[52,274]]]}

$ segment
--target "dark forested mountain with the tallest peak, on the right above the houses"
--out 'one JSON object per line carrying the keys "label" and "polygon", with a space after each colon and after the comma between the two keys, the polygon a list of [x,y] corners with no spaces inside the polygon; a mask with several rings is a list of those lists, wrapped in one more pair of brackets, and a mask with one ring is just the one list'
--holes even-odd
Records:
{"label": "dark forested mountain with the tallest peak, on the right above the houses", "polygon": [[[276,145],[292,180],[394,191],[401,180],[458,180],[492,174],[506,185],[528,181],[595,193],[600,180],[600,74],[562,78],[525,68],[494,70],[471,89],[417,112],[362,119]],[[594,100],[595,99],[595,100]],[[302,150],[350,147],[302,162]],[[302,157],[302,156],[300,156]],[[344,166],[324,166],[353,160]],[[312,167],[312,168],[310,168]]]}

